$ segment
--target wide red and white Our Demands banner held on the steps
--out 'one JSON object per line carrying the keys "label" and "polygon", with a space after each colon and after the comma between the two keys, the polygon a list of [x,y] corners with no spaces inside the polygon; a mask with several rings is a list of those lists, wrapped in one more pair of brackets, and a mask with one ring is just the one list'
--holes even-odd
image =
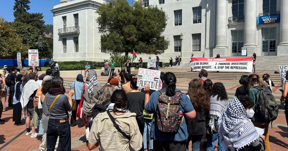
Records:
{"label": "wide red and white Our Demands banner held on the steps", "polygon": [[252,72],[252,57],[241,58],[191,58],[190,66],[194,71],[240,71]]}

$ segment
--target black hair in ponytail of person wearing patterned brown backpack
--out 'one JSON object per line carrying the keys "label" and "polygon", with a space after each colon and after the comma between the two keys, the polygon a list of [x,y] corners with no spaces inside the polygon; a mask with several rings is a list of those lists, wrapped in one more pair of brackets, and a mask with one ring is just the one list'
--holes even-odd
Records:
{"label": "black hair in ponytail of person wearing patterned brown backpack", "polygon": [[174,96],[175,89],[176,89],[176,77],[172,72],[167,72],[164,74],[163,80],[165,81],[167,88],[166,88],[166,95],[167,96]]}

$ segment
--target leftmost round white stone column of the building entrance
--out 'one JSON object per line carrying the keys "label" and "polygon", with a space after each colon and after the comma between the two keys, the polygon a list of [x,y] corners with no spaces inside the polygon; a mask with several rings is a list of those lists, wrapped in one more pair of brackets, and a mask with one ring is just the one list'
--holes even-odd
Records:
{"label": "leftmost round white stone column of the building entrance", "polygon": [[227,1],[217,0],[216,3],[216,45],[213,49],[213,57],[216,54],[223,57],[230,56],[227,48]]}

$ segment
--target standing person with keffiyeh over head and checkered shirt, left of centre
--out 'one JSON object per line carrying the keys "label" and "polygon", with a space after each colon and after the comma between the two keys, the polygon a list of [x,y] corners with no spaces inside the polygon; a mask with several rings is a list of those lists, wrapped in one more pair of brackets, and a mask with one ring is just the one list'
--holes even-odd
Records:
{"label": "standing person with keffiyeh over head and checkered shirt, left of centre", "polygon": [[[116,79],[116,78],[113,78]],[[100,91],[102,89],[102,85],[98,83],[97,81],[97,73],[95,70],[90,70],[88,72],[86,82],[85,82],[85,89],[82,88],[83,98],[85,99],[83,101],[83,114],[82,114],[82,127],[85,128],[86,132],[86,146],[88,146],[88,137],[89,137],[89,127],[88,127],[88,121],[90,118],[90,115],[92,113],[93,107],[95,104],[98,104],[98,98]]]}

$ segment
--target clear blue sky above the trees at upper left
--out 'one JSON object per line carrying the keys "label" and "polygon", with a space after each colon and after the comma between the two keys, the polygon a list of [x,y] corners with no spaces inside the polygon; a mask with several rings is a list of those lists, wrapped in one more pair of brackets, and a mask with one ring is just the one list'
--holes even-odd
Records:
{"label": "clear blue sky above the trees at upper left", "polygon": [[[14,21],[14,2],[14,0],[1,0],[0,16],[8,22]],[[50,12],[50,9],[52,9],[54,5],[60,4],[60,0],[30,0],[30,2],[30,10],[28,10],[28,12],[43,13],[45,24],[53,24],[53,13]],[[132,4],[132,0],[128,0],[128,2],[130,5]]]}

